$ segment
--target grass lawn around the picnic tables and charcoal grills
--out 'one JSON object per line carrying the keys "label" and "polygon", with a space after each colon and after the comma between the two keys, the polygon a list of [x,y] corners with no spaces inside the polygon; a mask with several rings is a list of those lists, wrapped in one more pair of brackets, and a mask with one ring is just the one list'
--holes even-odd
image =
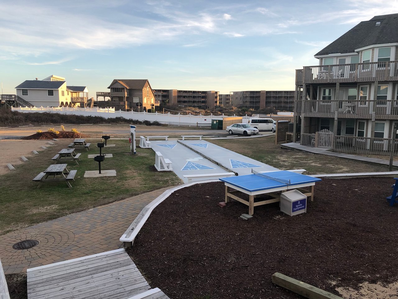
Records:
{"label": "grass lawn around the picnic tables and charcoal grills", "polygon": [[0,234],[24,228],[33,224],[55,219],[81,210],[125,199],[162,187],[181,184],[172,171],[156,171],[155,153],[151,149],[137,148],[137,155],[130,155],[127,140],[109,140],[115,147],[104,148],[113,158],[105,158],[101,169],[116,169],[116,177],[84,178],[84,171],[98,170],[98,163],[88,159],[88,154],[99,153],[97,143],[91,150],[77,148],[79,165],[68,161],[68,169],[77,169],[72,188],[64,182],[38,183],[32,179],[54,162],[51,158],[71,140],[60,140],[56,146],[29,157],[29,161],[16,165],[16,171],[0,175]]}

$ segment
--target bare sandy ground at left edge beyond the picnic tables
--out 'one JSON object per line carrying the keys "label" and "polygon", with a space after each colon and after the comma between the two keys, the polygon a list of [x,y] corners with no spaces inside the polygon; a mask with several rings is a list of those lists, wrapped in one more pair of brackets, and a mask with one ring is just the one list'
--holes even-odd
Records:
{"label": "bare sandy ground at left edge beyond the picnic tables", "polygon": [[23,163],[21,156],[29,159],[33,155],[32,151],[39,151],[41,146],[49,146],[46,144],[49,140],[0,140],[0,175],[10,171],[7,163],[18,165]]}

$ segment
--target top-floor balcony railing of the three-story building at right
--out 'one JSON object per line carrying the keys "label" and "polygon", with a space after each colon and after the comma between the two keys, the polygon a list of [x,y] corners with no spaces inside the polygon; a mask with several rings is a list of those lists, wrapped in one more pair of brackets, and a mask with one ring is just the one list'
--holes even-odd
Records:
{"label": "top-floor balcony railing of the three-story building at right", "polygon": [[398,81],[398,61],[316,65],[296,70],[296,85]]}

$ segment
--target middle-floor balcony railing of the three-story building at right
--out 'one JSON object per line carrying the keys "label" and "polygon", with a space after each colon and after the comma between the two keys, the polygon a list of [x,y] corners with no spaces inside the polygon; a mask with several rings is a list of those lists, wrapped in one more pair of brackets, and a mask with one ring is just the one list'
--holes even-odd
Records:
{"label": "middle-floor balcony railing of the three-story building at right", "polygon": [[298,100],[295,112],[301,117],[398,120],[398,101]]}

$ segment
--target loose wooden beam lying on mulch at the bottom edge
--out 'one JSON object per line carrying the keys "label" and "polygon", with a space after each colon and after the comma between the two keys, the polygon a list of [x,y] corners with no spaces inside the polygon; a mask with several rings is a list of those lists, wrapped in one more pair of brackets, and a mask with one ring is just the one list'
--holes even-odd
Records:
{"label": "loose wooden beam lying on mulch at the bottom edge", "polygon": [[308,283],[304,283],[297,279],[283,275],[281,273],[274,273],[272,275],[272,283],[284,287],[290,291],[297,293],[309,299],[343,299],[337,295],[318,289]]}

